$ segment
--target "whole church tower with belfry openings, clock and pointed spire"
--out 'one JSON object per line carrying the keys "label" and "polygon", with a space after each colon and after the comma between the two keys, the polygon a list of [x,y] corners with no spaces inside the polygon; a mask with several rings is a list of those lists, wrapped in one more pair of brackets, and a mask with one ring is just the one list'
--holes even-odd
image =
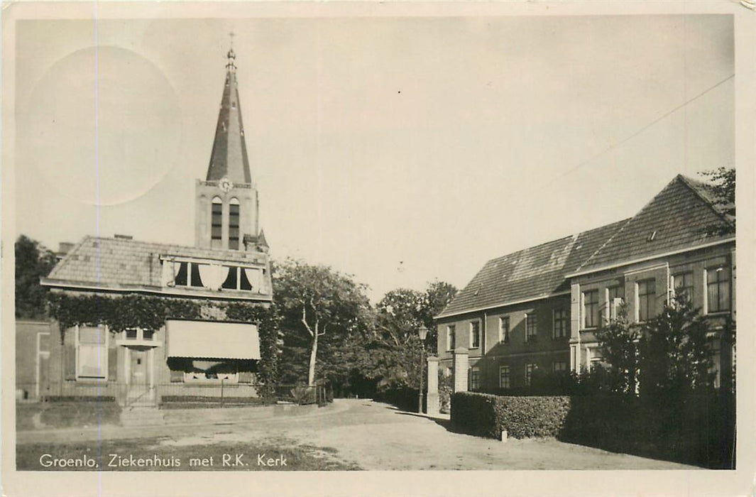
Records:
{"label": "whole church tower with belfry openings, clock and pointed spire", "polygon": [[195,187],[194,244],[220,250],[267,252],[259,228],[257,187],[244,142],[236,54],[227,54],[226,80],[205,180]]}

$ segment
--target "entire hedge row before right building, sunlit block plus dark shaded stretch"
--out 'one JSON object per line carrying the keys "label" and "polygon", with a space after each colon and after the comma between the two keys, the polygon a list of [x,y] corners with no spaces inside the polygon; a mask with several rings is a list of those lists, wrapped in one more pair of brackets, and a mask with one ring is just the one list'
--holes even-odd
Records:
{"label": "entire hedge row before right building, sunlit block plus dark shaded stretch", "polygon": [[717,392],[643,399],[593,396],[451,396],[456,430],[499,439],[559,440],[717,469],[735,467],[735,400]]}

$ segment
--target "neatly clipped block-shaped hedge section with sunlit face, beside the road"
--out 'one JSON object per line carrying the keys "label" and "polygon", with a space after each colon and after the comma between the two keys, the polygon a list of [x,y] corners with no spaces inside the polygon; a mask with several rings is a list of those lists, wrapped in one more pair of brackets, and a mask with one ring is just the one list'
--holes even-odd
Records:
{"label": "neatly clipped block-shaped hedge section with sunlit face, beside the road", "polygon": [[570,410],[567,396],[504,397],[458,392],[451,396],[454,427],[499,439],[507,430],[514,438],[558,436]]}

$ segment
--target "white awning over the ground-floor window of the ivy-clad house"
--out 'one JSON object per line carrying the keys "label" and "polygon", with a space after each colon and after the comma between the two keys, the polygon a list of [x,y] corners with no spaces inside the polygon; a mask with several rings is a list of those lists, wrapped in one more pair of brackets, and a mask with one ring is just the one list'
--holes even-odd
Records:
{"label": "white awning over the ground-floor window of the ivy-clad house", "polygon": [[220,321],[166,321],[169,357],[260,359],[256,325]]}

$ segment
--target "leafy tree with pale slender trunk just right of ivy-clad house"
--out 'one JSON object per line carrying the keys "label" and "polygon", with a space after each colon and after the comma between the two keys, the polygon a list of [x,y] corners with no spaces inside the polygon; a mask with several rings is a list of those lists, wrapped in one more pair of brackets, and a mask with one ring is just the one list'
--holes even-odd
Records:
{"label": "leafy tree with pale slender trunk just right of ivy-clad house", "polygon": [[304,359],[302,353],[308,351],[307,383],[314,385],[318,348],[324,345],[332,353],[350,334],[364,330],[370,319],[365,290],[364,284],[328,266],[293,259],[277,266],[274,300],[282,314],[287,345],[282,366],[301,368],[298,359]]}

